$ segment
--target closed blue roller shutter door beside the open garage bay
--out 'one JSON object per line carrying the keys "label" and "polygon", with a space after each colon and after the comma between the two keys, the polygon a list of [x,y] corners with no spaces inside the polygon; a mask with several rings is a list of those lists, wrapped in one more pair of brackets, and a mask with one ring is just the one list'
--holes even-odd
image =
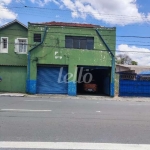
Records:
{"label": "closed blue roller shutter door beside the open garage bay", "polygon": [[[61,73],[60,81],[58,82]],[[38,94],[67,94],[68,83],[65,78],[68,68],[63,67],[38,67],[37,71],[37,93]],[[65,82],[64,82],[65,81]]]}

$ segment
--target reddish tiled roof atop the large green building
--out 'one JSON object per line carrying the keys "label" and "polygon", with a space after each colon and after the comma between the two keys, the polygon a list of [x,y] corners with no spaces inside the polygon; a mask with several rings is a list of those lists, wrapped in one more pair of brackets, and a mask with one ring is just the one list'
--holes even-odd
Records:
{"label": "reddish tiled roof atop the large green building", "polygon": [[84,28],[101,27],[99,25],[93,25],[93,24],[67,23],[67,22],[55,22],[55,21],[52,21],[52,22],[43,22],[43,23],[30,23],[30,24],[47,25],[47,26],[84,27]]}

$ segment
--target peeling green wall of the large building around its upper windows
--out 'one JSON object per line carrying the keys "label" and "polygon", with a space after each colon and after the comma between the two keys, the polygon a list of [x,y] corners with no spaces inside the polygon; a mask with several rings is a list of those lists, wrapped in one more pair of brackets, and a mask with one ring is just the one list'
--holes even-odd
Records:
{"label": "peeling green wall of the large building around its upper windows", "polygon": [[[115,54],[116,29],[99,28],[98,30]],[[38,44],[33,42],[34,33],[41,33],[43,35],[44,26],[29,24],[28,31],[28,49],[30,50]],[[94,37],[94,50],[66,49],[65,35]],[[68,65],[69,73],[74,74],[77,65],[111,67],[112,58],[94,28],[49,26],[44,43],[31,52],[31,80],[36,80],[37,64]]]}

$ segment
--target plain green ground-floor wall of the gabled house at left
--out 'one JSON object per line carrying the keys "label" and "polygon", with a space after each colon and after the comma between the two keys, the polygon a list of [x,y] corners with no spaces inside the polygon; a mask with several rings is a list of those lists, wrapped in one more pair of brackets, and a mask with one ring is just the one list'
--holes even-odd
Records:
{"label": "plain green ground-floor wall of the gabled house at left", "polygon": [[0,92],[26,92],[26,67],[0,66]]}

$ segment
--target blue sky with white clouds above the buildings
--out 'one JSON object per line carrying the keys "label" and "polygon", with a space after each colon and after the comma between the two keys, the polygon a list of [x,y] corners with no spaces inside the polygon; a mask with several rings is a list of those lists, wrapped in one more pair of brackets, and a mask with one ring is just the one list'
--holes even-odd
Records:
{"label": "blue sky with white clouds above the buildings", "polygon": [[25,25],[63,21],[116,27],[116,50],[150,65],[149,7],[150,0],[0,0],[0,25],[18,19]]}

